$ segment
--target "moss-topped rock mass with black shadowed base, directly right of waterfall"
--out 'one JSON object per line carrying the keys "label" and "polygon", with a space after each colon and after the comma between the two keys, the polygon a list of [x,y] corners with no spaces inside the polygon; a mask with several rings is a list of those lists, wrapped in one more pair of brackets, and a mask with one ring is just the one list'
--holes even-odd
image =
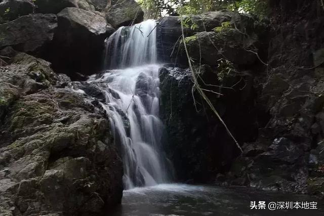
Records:
{"label": "moss-topped rock mass with black shadowed base, directly right of waterfall", "polygon": [[[195,31],[201,31],[194,33],[190,27],[185,29],[188,52],[196,65],[195,76],[199,77],[198,84],[236,138],[240,142],[252,141],[256,138],[258,128],[255,113],[259,112],[254,107],[255,74],[252,71],[257,56],[247,50],[258,44],[256,28],[250,27],[255,20],[246,15],[222,11],[192,16],[190,22],[197,25]],[[249,44],[245,44],[244,34],[234,27],[219,32],[213,30],[225,22],[247,29],[254,38],[250,39]],[[160,40],[159,46],[168,47],[166,52],[173,50],[172,55],[166,55],[171,56],[169,61],[187,64],[183,43],[178,40],[181,35],[180,18],[164,18],[159,25],[159,36],[166,37]],[[169,31],[174,37],[167,39]],[[199,62],[205,65],[199,68]],[[217,67],[218,64],[222,66]],[[169,64],[160,70],[160,110],[169,138],[166,149],[179,179],[200,183],[210,181],[211,176],[229,168],[239,149],[227,135],[215,113],[194,89],[190,70],[172,66]]]}

